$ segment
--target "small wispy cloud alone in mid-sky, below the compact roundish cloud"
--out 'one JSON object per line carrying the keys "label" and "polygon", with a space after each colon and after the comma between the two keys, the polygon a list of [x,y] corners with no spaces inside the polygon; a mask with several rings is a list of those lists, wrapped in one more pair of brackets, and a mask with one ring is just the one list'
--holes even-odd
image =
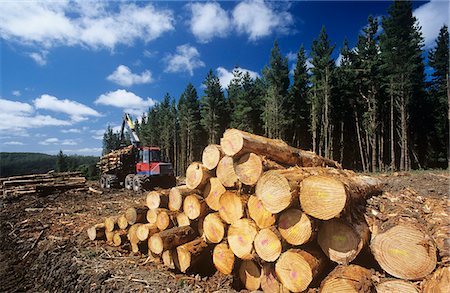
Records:
{"label": "small wispy cloud alone in mid-sky, below the compact roundish cloud", "polygon": [[194,69],[205,66],[198,50],[188,44],[178,46],[177,53],[169,54],[166,62],[166,72],[188,72],[191,76],[194,75]]}

